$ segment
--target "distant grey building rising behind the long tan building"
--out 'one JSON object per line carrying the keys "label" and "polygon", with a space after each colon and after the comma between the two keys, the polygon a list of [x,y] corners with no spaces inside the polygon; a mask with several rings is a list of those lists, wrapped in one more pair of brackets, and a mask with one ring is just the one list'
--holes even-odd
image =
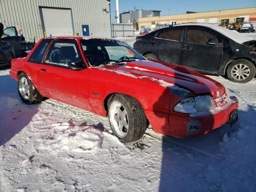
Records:
{"label": "distant grey building rising behind the long tan building", "polygon": [[160,16],[161,11],[157,10],[134,10],[134,11],[128,11],[128,12],[122,12],[119,15],[120,23],[130,23],[133,22],[134,19],[136,22],[139,21],[139,18],[142,17],[157,17]]}

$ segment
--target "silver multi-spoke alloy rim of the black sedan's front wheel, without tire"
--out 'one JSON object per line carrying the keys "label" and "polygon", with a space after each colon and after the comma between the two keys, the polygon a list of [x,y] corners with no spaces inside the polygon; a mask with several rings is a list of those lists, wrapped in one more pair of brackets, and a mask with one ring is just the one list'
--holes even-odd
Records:
{"label": "silver multi-spoke alloy rim of the black sedan's front wheel, without tire", "polygon": [[250,69],[247,65],[236,64],[231,69],[231,75],[236,80],[245,80],[250,75]]}

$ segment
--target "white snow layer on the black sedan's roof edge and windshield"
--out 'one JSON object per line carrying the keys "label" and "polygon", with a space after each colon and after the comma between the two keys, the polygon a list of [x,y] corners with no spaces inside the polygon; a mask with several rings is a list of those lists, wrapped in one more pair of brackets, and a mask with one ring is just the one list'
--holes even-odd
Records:
{"label": "white snow layer on the black sedan's roof edge and windshield", "polygon": [[239,44],[243,44],[244,42],[253,40],[253,38],[250,38],[250,37],[247,37],[247,36],[245,36],[243,34],[240,34],[236,30],[229,30],[229,29],[226,29],[224,27],[220,27],[217,24],[185,23],[185,24],[177,24],[177,25],[172,26],[170,28],[181,27],[181,26],[182,27],[185,27],[185,26],[199,26],[199,27],[210,28],[210,29],[215,30],[215,31],[219,32],[220,34],[230,38],[231,40],[233,40],[234,42],[237,42]]}

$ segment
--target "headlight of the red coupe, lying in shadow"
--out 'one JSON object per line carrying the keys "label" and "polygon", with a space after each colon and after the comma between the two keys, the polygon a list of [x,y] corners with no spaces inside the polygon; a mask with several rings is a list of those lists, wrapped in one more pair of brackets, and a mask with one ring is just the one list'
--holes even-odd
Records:
{"label": "headlight of the red coupe, lying in shadow", "polygon": [[208,111],[214,107],[214,100],[210,95],[200,95],[181,100],[173,110],[180,113],[196,113]]}

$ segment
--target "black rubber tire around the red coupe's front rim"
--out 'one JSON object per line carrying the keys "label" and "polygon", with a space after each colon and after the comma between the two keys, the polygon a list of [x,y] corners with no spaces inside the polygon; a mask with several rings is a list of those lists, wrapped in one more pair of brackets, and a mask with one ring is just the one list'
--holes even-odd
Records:
{"label": "black rubber tire around the red coupe's front rim", "polygon": [[[120,102],[126,109],[128,116],[128,131],[125,137],[120,138],[115,134],[115,130],[110,121],[110,105],[112,102]],[[139,140],[144,135],[147,129],[147,118],[141,104],[131,96],[125,94],[115,94],[108,100],[108,120],[110,127],[115,136],[119,138],[121,142],[128,143]]]}

